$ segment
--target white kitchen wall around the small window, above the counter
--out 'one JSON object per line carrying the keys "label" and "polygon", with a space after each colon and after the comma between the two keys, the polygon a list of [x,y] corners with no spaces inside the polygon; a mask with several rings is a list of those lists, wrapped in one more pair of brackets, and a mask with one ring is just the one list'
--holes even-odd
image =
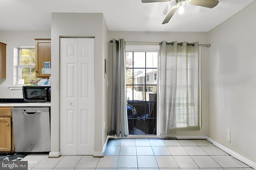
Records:
{"label": "white kitchen wall around the small window, above the counter", "polygon": [[0,31],[0,42],[6,45],[6,79],[0,79],[0,98],[23,98],[22,90],[10,90],[17,85],[19,47],[35,47],[35,40],[51,38],[50,31]]}

